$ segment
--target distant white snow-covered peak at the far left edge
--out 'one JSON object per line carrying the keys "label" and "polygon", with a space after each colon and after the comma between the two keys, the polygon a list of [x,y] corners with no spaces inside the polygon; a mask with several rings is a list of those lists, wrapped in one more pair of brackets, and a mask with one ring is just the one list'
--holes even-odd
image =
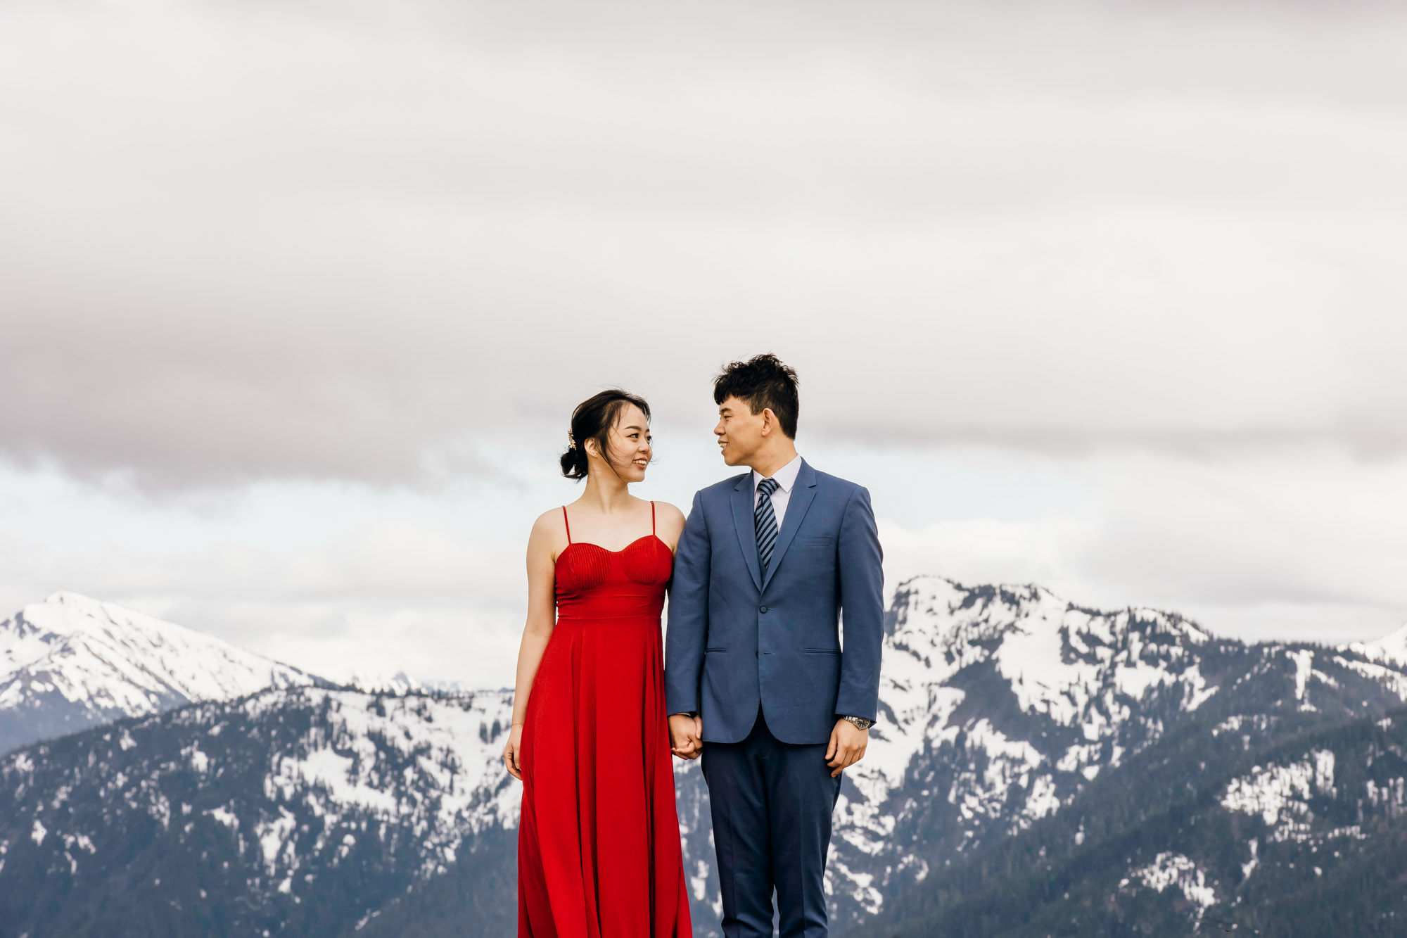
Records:
{"label": "distant white snow-covered peak at the far left edge", "polygon": [[113,603],[55,593],[0,623],[0,752],[120,717],[325,683]]}

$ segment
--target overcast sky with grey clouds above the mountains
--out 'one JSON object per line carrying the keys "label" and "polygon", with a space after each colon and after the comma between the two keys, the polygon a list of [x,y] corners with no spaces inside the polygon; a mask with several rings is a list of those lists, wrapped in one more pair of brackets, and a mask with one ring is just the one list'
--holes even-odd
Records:
{"label": "overcast sky with grey clouds above the mountains", "polygon": [[0,601],[511,683],[571,407],[775,351],[886,577],[1407,620],[1407,13],[0,7]]}

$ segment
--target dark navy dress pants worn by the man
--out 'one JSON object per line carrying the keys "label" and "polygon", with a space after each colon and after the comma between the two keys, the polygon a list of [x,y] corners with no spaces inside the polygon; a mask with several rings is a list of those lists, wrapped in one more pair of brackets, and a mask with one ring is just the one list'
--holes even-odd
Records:
{"label": "dark navy dress pants worn by the man", "polygon": [[761,711],[741,742],[704,746],[725,938],[826,938],[826,851],[840,776],[826,744],[778,742]]}

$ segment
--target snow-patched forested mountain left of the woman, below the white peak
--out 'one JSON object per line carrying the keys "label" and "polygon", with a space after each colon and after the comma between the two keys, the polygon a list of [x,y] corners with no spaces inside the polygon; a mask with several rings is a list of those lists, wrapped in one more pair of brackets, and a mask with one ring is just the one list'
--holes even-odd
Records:
{"label": "snow-patched forested mountain left of the woman, below the white peak", "polygon": [[502,692],[274,689],[14,752],[0,759],[14,796],[0,801],[0,920],[82,934],[80,901],[31,884],[72,897],[115,873],[111,928],[338,935],[461,853],[487,851],[511,877],[511,713]]}

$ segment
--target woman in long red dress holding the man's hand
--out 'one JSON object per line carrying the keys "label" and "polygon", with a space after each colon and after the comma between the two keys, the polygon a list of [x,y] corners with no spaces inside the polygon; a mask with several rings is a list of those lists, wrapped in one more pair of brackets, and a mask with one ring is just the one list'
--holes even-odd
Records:
{"label": "woman in long red dress holding the man's hand", "polygon": [[651,458],[642,399],[591,397],[568,441],[563,475],[587,486],[528,541],[504,749],[523,783],[518,935],[688,938],[660,638],[684,514],[629,492]]}

